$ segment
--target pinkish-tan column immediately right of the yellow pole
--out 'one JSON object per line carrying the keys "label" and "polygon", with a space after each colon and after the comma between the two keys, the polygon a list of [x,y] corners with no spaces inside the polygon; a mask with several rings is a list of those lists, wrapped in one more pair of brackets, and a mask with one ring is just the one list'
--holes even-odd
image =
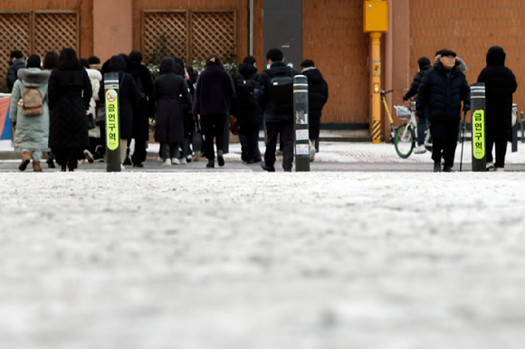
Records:
{"label": "pinkish-tan column immediately right of the yellow pole", "polygon": [[[389,3],[384,77],[385,90],[394,90],[387,94],[387,104],[396,121],[396,111],[392,106],[403,102],[403,96],[414,78],[410,72],[410,0],[389,0]],[[383,135],[388,139],[390,121],[386,112],[383,120]]]}

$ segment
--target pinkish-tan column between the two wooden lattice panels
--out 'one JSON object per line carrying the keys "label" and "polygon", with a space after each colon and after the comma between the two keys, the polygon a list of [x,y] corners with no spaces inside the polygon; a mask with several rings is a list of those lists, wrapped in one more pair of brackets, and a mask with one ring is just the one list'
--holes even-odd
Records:
{"label": "pinkish-tan column between the two wooden lattice panels", "polygon": [[102,63],[133,50],[133,3],[93,0],[93,52]]}

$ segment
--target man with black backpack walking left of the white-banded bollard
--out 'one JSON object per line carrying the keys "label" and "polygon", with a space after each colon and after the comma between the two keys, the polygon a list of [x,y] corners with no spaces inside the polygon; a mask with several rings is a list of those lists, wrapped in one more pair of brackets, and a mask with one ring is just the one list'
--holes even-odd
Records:
{"label": "man with black backpack walking left of the white-banded bollard", "polygon": [[286,66],[283,57],[279,49],[271,49],[266,54],[270,69],[259,75],[254,92],[257,104],[264,111],[267,141],[261,167],[268,172],[275,172],[275,148],[280,134],[282,168],[291,172],[293,163],[293,77],[299,71]]}

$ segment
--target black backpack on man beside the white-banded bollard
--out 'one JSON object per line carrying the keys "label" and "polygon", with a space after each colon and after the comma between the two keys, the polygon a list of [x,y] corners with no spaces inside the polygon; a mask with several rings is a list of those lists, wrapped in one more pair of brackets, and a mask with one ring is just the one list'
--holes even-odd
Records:
{"label": "black backpack on man beside the white-banded bollard", "polygon": [[271,75],[270,80],[270,102],[272,103],[272,110],[276,113],[292,113],[293,112],[293,73],[291,69],[288,71],[280,71]]}

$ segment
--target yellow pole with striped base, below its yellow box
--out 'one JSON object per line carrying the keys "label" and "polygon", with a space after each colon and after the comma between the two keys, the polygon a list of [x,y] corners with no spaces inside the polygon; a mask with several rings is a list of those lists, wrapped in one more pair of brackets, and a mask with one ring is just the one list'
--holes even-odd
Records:
{"label": "yellow pole with striped base, below its yellow box", "polygon": [[372,38],[372,122],[370,134],[374,144],[381,143],[381,33],[370,33]]}

